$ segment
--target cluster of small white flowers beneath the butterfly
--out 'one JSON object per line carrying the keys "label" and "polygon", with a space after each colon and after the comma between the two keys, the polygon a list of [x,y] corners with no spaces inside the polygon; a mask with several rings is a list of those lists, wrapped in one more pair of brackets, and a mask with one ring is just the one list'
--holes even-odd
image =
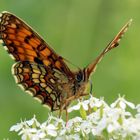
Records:
{"label": "cluster of small white flowers beneath the butterfly", "polygon": [[[134,115],[127,111],[130,109]],[[135,106],[119,97],[108,105],[90,96],[68,109],[69,113],[74,111],[80,112],[79,117],[67,124],[52,115],[40,124],[34,116],[12,126],[10,131],[17,132],[22,140],[140,140],[140,104]]]}

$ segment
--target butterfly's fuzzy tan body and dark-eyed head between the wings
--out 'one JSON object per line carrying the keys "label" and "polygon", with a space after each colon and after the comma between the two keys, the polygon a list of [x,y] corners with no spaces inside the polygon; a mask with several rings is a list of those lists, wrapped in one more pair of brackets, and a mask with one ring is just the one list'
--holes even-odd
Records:
{"label": "butterfly's fuzzy tan body and dark-eyed head between the wings", "polygon": [[84,70],[79,70],[74,73],[74,78],[69,80],[69,83],[63,85],[63,93],[61,94],[61,108],[66,107],[75,99],[79,99],[82,96],[87,95],[85,93],[88,80],[85,79]]}

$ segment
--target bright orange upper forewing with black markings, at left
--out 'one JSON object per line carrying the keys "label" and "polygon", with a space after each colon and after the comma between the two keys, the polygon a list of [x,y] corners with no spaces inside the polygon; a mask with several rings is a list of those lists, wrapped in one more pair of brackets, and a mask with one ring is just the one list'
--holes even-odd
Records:
{"label": "bright orange upper forewing with black markings, at left", "polygon": [[0,18],[0,36],[7,51],[16,61],[31,61],[55,67],[70,76],[72,73],[49,45],[25,22],[15,15],[3,12]]}

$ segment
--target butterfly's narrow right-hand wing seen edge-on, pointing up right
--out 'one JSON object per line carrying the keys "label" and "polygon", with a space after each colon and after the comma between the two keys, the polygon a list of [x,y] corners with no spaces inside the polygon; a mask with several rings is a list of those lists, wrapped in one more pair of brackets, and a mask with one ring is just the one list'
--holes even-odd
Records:
{"label": "butterfly's narrow right-hand wing seen edge-on, pointing up right", "polygon": [[120,32],[114,37],[114,39],[107,45],[107,47],[100,53],[100,55],[85,68],[86,78],[88,79],[92,72],[95,72],[97,64],[102,60],[103,56],[109,52],[111,49],[116,48],[119,45],[121,38],[127,31],[128,27],[131,25],[132,19],[130,19],[120,30]]}

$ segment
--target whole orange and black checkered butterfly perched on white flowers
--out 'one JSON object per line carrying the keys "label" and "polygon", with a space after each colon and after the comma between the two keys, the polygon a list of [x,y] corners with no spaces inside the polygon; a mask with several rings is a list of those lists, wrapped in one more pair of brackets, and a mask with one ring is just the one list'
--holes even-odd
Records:
{"label": "whole orange and black checkered butterfly perched on white flowers", "polygon": [[52,111],[64,110],[72,100],[87,95],[85,89],[91,73],[103,56],[119,45],[130,23],[131,20],[95,61],[75,72],[31,27],[11,13],[1,14],[0,37],[4,48],[16,61],[12,67],[16,82]]}

